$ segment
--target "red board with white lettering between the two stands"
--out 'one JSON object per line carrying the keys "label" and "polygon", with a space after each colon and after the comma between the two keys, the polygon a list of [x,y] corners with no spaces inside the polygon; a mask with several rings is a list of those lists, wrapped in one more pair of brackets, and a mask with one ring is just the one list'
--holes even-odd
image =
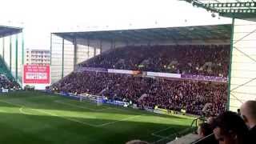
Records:
{"label": "red board with white lettering between the two stands", "polygon": [[49,84],[50,66],[24,65],[23,83]]}

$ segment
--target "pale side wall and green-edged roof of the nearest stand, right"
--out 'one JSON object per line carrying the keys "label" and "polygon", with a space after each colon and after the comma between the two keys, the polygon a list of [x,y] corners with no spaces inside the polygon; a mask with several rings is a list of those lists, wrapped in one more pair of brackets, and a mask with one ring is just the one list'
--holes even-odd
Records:
{"label": "pale side wall and green-edged roof of the nearest stand, right", "polygon": [[256,2],[254,0],[184,0],[210,13],[232,18],[228,110],[256,100]]}

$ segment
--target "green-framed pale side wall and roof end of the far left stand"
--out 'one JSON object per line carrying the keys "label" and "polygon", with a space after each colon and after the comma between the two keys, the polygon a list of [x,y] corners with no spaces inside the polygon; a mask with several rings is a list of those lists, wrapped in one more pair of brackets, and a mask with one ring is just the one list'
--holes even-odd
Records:
{"label": "green-framed pale side wall and roof end of the far left stand", "polygon": [[0,26],[1,71],[10,79],[22,84],[24,40],[22,28]]}

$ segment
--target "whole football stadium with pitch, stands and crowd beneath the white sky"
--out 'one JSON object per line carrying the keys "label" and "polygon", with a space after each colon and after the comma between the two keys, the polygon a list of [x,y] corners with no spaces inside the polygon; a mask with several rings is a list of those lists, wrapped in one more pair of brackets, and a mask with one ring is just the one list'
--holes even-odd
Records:
{"label": "whole football stadium with pitch, stands and crowd beneath the white sky", "polygon": [[51,31],[49,64],[0,26],[0,143],[255,143],[256,2],[178,2],[230,23]]}

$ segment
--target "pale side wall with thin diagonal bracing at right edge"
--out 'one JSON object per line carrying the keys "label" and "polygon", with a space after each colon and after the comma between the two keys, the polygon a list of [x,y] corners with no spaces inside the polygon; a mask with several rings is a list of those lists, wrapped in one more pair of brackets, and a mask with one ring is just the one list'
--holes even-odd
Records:
{"label": "pale side wall with thin diagonal bracing at right edge", "polygon": [[229,109],[256,100],[256,22],[234,19]]}

